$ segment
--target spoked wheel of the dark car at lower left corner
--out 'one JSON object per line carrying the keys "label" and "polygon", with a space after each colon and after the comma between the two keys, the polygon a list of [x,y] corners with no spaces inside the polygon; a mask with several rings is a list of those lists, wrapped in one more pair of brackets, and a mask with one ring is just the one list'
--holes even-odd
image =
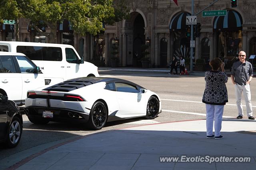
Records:
{"label": "spoked wheel of the dark car at lower left corner", "polygon": [[22,123],[19,117],[14,117],[12,119],[10,127],[8,127],[7,131],[7,141],[6,145],[9,148],[16,147],[20,142],[20,138],[22,135]]}

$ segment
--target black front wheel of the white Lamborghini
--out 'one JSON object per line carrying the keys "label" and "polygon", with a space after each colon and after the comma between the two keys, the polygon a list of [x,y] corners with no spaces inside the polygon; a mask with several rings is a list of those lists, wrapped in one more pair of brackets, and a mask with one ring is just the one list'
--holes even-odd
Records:
{"label": "black front wheel of the white Lamborghini", "polygon": [[151,96],[148,100],[147,104],[147,113],[146,118],[147,119],[154,119],[157,117],[159,113],[159,101],[155,96]]}

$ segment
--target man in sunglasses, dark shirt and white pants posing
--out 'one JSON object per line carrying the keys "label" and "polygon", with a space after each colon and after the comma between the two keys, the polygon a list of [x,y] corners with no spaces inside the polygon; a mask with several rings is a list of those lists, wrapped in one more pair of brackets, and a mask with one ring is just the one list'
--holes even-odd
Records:
{"label": "man in sunglasses, dark shirt and white pants posing", "polygon": [[244,100],[246,102],[246,111],[248,119],[254,120],[252,116],[252,103],[251,103],[251,92],[250,92],[250,82],[253,77],[252,64],[246,61],[246,53],[240,51],[239,61],[236,61],[231,70],[231,80],[235,85],[236,93],[236,106],[238,109],[237,119],[243,118],[243,108],[242,108],[242,92],[244,93]]}

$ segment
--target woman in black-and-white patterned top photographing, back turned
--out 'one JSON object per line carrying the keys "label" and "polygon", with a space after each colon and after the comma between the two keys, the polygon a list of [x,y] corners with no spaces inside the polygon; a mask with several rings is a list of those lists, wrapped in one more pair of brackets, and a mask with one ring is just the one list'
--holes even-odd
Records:
{"label": "woman in black-and-white patterned top photographing, back turned", "polygon": [[[202,102],[206,104],[206,138],[222,139],[220,130],[224,105],[228,102],[228,91],[225,84],[228,82],[228,76],[224,70],[225,63],[220,59],[213,59],[209,64],[212,70],[205,72],[205,90],[202,98]],[[220,67],[221,72],[218,71]]]}

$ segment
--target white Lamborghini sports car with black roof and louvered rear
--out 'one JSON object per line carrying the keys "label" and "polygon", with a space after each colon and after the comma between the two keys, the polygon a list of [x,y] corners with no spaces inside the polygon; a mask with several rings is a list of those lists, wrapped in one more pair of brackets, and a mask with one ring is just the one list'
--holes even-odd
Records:
{"label": "white Lamborghini sports car with black roof and louvered rear", "polygon": [[35,124],[78,121],[101,129],[107,121],[146,117],[161,112],[159,96],[118,78],[74,78],[40,90],[29,90],[24,111]]}

